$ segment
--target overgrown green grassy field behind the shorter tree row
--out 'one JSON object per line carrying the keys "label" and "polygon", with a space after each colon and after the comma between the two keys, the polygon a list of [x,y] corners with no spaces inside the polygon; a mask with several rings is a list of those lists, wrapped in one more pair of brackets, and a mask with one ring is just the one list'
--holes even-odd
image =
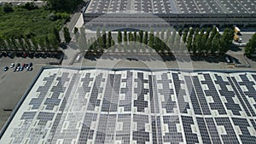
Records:
{"label": "overgrown green grassy field behind the shorter tree row", "polygon": [[13,12],[4,13],[0,7],[0,37],[45,37],[53,32],[54,27],[58,30],[67,19],[59,18],[49,20],[49,14],[54,13],[44,8],[21,9],[15,8]]}

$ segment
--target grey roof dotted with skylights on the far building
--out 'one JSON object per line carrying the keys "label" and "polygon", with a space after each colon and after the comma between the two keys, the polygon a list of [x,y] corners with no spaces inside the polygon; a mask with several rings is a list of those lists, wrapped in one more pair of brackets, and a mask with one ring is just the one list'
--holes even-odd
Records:
{"label": "grey roof dotted with skylights on the far building", "polygon": [[255,0],[90,0],[85,13],[255,14]]}

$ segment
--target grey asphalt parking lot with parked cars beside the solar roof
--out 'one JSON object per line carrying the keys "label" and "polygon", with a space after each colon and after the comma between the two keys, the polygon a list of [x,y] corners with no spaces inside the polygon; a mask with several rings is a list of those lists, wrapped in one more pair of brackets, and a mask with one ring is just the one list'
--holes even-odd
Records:
{"label": "grey asphalt parking lot with parked cars beside the solar roof", "polygon": [[[48,65],[49,62],[57,61],[56,59],[48,58],[17,58],[10,59],[9,57],[0,58],[0,130],[5,124],[6,120],[9,118],[11,111],[13,110],[20,101],[21,96],[28,89],[32,80],[37,75],[38,71],[42,66]],[[5,66],[10,66],[11,63],[23,63],[29,64],[32,62],[32,71],[26,71],[24,69],[21,72],[14,72],[13,68],[9,68],[8,71],[4,72],[3,68]],[[8,110],[8,111],[4,111]]]}

